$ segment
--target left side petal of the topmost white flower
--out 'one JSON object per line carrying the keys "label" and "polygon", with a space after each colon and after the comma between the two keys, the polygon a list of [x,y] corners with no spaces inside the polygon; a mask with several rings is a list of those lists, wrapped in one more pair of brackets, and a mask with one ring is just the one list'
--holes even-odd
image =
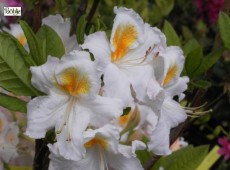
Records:
{"label": "left side petal of the topmost white flower", "polygon": [[100,71],[103,71],[110,62],[111,51],[105,32],[96,32],[88,35],[81,47],[88,49],[94,55],[95,62]]}

